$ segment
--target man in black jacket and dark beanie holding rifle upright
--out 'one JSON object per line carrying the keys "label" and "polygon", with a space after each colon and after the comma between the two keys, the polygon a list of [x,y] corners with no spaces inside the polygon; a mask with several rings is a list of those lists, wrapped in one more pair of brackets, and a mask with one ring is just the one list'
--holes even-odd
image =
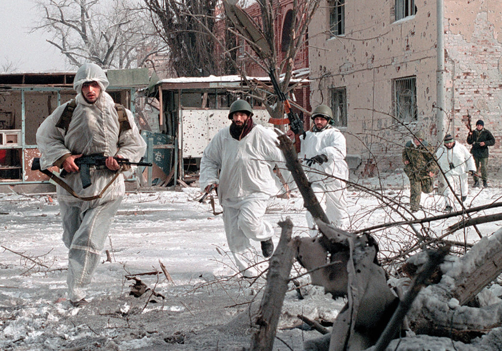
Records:
{"label": "man in black jacket and dark beanie holding rifle upright", "polygon": [[[483,187],[488,186],[488,172],[486,170],[486,164],[488,163],[488,146],[495,144],[495,138],[491,135],[490,131],[484,128],[484,122],[478,120],[476,122],[476,129],[469,132],[467,135],[467,144],[472,145],[471,153],[474,157],[474,163],[476,164],[476,173],[481,173],[481,179],[483,180]],[[474,176],[474,188],[479,187],[479,178]]]}

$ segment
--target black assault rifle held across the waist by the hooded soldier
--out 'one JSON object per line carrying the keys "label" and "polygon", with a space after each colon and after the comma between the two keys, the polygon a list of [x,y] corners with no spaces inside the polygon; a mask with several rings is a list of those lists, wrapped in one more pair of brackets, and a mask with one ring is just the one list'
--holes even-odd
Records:
{"label": "black assault rifle held across the waist by the hooded soldier", "polygon": [[[78,166],[80,171],[80,180],[82,181],[82,188],[88,188],[91,186],[91,175],[90,175],[90,166],[96,167],[106,167],[106,158],[107,156],[103,156],[102,154],[93,154],[88,156],[81,156],[75,158],[75,164]],[[119,165],[137,165],[137,166],[147,166],[151,167],[153,164],[150,162],[131,162],[128,158],[119,158],[113,157]],[[41,170],[40,169],[40,158],[35,157],[32,163],[32,170]],[[68,172],[66,170],[61,170],[59,176],[61,178],[65,178]]]}

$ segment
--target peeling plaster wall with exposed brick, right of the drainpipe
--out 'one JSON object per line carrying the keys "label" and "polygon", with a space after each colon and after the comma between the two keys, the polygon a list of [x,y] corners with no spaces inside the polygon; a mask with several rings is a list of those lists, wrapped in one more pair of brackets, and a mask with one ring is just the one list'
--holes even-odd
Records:
{"label": "peeling plaster wall with exposed brick, right of the drainpipe", "polygon": [[[445,1],[447,125],[467,145],[467,112],[472,127],[481,119],[495,137],[489,148],[490,172],[502,177],[502,3],[497,0],[458,3]],[[467,145],[468,146],[468,145]]]}

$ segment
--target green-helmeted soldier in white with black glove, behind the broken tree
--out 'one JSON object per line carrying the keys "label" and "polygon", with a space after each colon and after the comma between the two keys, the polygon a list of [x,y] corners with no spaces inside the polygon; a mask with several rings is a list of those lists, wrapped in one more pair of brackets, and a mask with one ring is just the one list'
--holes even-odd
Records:
{"label": "green-helmeted soldier in white with black glove, behind the broken tree", "polygon": [[[348,167],[345,162],[346,142],[343,134],[331,125],[333,112],[326,105],[318,105],[310,116],[314,122],[301,140],[300,157],[303,168],[317,200],[326,212],[331,223],[346,229],[348,224],[345,182],[348,180]],[[310,235],[317,233],[314,219],[307,211]]]}

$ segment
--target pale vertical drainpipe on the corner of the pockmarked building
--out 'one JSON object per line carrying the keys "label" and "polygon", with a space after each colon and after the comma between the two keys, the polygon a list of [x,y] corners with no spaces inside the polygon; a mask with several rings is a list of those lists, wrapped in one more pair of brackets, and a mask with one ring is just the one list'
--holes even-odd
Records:
{"label": "pale vertical drainpipe on the corner of the pockmarked building", "polygon": [[437,139],[439,142],[442,141],[445,135],[444,127],[444,100],[445,100],[445,69],[444,69],[444,0],[437,0],[436,3],[437,12],[437,69],[436,69],[436,122],[437,122]]}

